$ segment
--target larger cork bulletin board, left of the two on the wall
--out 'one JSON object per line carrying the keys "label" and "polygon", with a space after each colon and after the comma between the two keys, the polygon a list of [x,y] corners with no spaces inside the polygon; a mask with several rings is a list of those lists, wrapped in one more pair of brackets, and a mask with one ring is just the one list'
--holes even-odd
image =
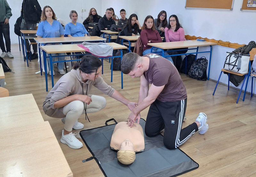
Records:
{"label": "larger cork bulletin board, left of the two on the wall", "polygon": [[234,0],[186,0],[185,8],[232,11],[233,1]]}

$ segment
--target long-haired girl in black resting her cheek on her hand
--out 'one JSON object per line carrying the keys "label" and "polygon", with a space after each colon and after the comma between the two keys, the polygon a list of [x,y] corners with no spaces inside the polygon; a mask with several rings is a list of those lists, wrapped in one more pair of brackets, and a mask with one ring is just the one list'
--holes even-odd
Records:
{"label": "long-haired girl in black resting her cheek on her hand", "polygon": [[135,13],[130,15],[127,23],[124,25],[123,32],[125,36],[135,36],[138,33],[140,34],[141,26]]}

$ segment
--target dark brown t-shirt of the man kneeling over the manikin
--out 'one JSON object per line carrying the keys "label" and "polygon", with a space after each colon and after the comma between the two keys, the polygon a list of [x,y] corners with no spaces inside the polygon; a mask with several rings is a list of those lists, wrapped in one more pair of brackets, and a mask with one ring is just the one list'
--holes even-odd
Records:
{"label": "dark brown t-shirt of the man kneeling over the manikin", "polygon": [[157,100],[174,102],[187,98],[187,91],[176,67],[164,57],[149,53],[149,68],[143,73],[146,80],[155,86],[164,86]]}

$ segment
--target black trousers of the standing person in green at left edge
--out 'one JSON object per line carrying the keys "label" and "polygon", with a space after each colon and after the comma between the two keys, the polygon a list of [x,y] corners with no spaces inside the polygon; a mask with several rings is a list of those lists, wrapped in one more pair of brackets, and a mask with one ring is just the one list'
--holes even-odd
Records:
{"label": "black trousers of the standing person in green at left edge", "polygon": [[[4,38],[3,38],[4,35]],[[5,46],[4,47],[4,40],[5,40]],[[7,25],[4,24],[4,22],[0,23],[0,47],[2,49],[2,52],[11,52],[11,40],[10,40],[10,24]]]}

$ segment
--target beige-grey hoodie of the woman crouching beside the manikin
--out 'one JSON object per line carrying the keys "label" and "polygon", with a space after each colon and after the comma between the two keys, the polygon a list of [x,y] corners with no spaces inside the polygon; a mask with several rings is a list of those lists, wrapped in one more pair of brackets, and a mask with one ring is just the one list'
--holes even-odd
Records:
{"label": "beige-grey hoodie of the woman crouching beside the manikin", "polygon": [[66,117],[66,115],[63,114],[63,107],[54,109],[53,104],[56,101],[66,98],[67,96],[70,96],[70,95],[75,95],[75,94],[82,95],[83,91],[85,95],[87,85],[88,85],[87,95],[89,95],[92,85],[110,97],[114,93],[114,89],[111,86],[109,86],[106,82],[104,82],[102,77],[96,78],[95,82],[94,80],[88,80],[87,82],[84,82],[82,80],[80,70],[73,69],[67,74],[65,74],[64,76],[62,76],[58,80],[58,82],[54,85],[52,90],[46,95],[45,101],[43,103],[44,113],[54,118]]}

